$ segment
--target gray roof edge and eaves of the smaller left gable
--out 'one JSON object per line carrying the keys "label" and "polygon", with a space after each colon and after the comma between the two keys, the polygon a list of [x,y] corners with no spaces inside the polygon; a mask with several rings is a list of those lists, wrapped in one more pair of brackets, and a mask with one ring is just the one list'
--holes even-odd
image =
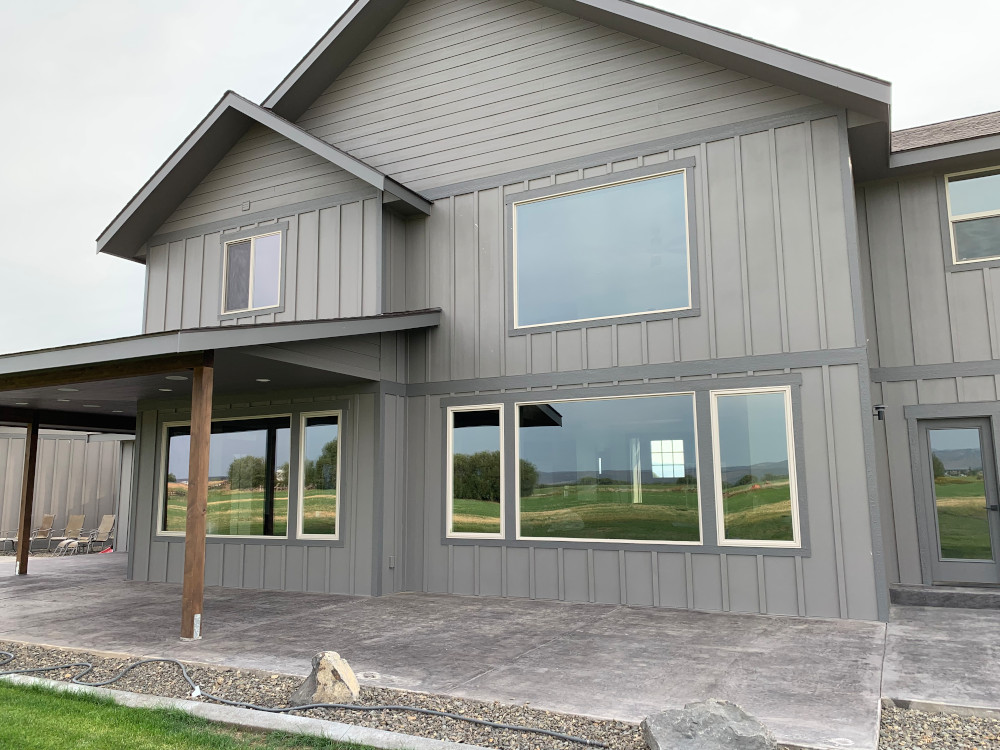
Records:
{"label": "gray roof edge and eaves of the smaller left gable", "polygon": [[145,262],[136,250],[225,156],[252,123],[270,128],[383,192],[403,213],[430,213],[430,202],[379,170],[263,107],[227,91],[97,238],[97,251]]}

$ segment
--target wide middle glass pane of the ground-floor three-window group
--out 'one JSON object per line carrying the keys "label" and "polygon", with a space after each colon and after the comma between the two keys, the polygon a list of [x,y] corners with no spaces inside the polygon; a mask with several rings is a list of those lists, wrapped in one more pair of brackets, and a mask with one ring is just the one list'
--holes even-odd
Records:
{"label": "wide middle glass pane of the ground-floor three-window group", "polygon": [[700,540],[690,394],[521,405],[518,439],[522,537]]}

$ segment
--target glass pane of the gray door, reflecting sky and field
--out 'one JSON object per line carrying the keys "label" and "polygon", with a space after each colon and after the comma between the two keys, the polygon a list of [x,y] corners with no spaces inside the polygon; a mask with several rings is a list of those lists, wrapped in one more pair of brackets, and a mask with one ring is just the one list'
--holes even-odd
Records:
{"label": "glass pane of the gray door, reflecting sky and field", "polygon": [[941,557],[992,560],[979,430],[934,429],[928,436]]}

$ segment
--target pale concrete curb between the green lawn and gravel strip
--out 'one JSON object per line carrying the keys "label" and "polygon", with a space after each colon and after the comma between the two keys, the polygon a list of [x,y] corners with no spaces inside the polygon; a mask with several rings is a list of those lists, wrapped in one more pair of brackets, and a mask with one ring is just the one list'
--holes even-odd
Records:
{"label": "pale concrete curb between the green lawn and gravel strip", "polygon": [[73,685],[57,680],[46,680],[42,677],[26,677],[24,675],[8,675],[0,679],[15,685],[42,685],[65,693],[82,693],[84,695],[99,695],[111,698],[120,706],[131,708],[174,708],[192,716],[199,716],[209,721],[231,726],[267,732],[289,732],[292,734],[307,734],[313,737],[324,737],[334,742],[347,742],[357,745],[384,748],[385,750],[483,750],[478,745],[465,745],[444,740],[432,740],[425,737],[413,737],[398,732],[387,732],[383,729],[369,729],[350,724],[340,724],[335,721],[311,719],[305,716],[286,716],[250,708],[234,706],[217,706],[211,703],[186,701],[178,698],[161,698],[155,695],[140,695],[123,690],[94,688],[85,685]]}

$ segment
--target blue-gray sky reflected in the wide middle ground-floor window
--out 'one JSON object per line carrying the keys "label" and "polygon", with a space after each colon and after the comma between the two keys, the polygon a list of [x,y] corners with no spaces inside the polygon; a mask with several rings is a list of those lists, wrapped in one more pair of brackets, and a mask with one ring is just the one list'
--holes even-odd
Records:
{"label": "blue-gray sky reflected in the wide middle ground-floor window", "polygon": [[686,473],[694,474],[694,399],[689,394],[562,402],[552,408],[562,415],[561,427],[519,429],[520,457],[540,472],[628,473],[631,441],[639,439],[644,469],[650,469],[654,440],[680,440],[687,448]]}

